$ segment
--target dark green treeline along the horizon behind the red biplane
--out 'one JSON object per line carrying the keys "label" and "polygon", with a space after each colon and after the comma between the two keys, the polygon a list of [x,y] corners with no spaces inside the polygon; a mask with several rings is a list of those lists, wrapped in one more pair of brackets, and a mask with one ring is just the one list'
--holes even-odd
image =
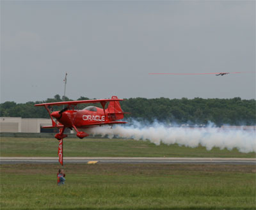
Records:
{"label": "dark green treeline along the horizon behind the red biplane", "polygon": [[[67,97],[65,100],[69,100]],[[88,100],[80,97],[77,100]],[[48,98],[45,101],[29,101],[27,103],[15,103],[6,101],[1,103],[1,117],[24,117],[24,118],[49,118],[44,107],[34,107],[35,103],[49,103],[61,101],[60,95]],[[124,112],[131,112],[125,118],[131,117],[138,121],[152,122],[154,120],[165,123],[188,123],[207,124],[209,121],[217,126],[230,125],[255,125],[256,107],[255,100],[241,100],[241,98],[218,99],[218,98],[129,98],[121,101]],[[91,104],[83,104],[79,109]],[[95,104],[93,104],[95,105]],[[100,107],[100,105],[97,105]],[[53,107],[60,110],[62,107]]]}

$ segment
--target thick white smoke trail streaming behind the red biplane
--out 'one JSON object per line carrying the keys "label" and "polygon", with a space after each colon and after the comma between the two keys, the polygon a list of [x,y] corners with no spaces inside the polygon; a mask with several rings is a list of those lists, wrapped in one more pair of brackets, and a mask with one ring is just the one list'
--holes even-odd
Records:
{"label": "thick white smoke trail streaming behind the red biplane", "polygon": [[[138,126],[138,122],[136,122]],[[153,126],[115,126],[96,127],[87,130],[93,135],[107,135],[109,138],[121,137],[134,140],[150,140],[156,145],[179,144],[180,146],[204,146],[207,150],[213,147],[232,150],[237,148],[241,153],[256,153],[255,130],[223,130],[220,128],[177,128],[166,127],[159,123]]]}

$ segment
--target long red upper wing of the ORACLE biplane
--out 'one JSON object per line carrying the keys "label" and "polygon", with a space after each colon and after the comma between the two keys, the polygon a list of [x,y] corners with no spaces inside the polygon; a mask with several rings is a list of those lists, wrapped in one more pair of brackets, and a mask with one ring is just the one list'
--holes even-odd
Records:
{"label": "long red upper wing of the ORACLE biplane", "polygon": [[35,104],[38,106],[61,106],[61,105],[77,105],[78,103],[104,103],[109,101],[122,101],[121,98],[111,98],[111,99],[96,99],[96,100],[81,100],[81,101],[60,101],[60,102],[52,102],[52,103],[38,103]]}

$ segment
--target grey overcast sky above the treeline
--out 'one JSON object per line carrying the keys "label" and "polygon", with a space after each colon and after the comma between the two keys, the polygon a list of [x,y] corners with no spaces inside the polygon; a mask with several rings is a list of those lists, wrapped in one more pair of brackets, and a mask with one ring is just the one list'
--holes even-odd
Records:
{"label": "grey overcast sky above the treeline", "polygon": [[[210,73],[215,75],[148,75]],[[255,98],[255,1],[1,1],[1,103]]]}

